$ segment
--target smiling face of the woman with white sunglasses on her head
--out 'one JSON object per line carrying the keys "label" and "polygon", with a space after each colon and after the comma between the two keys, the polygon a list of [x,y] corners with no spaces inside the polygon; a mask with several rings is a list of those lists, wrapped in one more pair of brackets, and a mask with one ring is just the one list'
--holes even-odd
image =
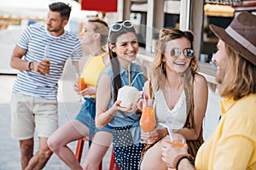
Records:
{"label": "smiling face of the woman with white sunglasses on her head", "polygon": [[110,44],[110,48],[119,57],[119,61],[131,62],[137,57],[138,42],[133,32],[127,32],[117,38],[115,45]]}

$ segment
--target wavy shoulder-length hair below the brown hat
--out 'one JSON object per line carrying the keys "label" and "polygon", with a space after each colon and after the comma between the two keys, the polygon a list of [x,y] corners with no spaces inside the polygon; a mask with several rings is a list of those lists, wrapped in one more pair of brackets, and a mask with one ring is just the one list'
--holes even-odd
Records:
{"label": "wavy shoulder-length hair below the brown hat", "polygon": [[225,74],[219,94],[234,100],[256,94],[256,66],[226,44],[225,51],[228,57],[226,72],[229,74]]}

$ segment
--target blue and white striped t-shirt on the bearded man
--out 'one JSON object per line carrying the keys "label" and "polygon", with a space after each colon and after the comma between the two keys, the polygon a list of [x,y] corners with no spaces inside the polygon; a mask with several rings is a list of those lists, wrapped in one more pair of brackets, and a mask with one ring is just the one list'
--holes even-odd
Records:
{"label": "blue and white striped t-shirt on the bearded man", "polygon": [[19,71],[14,85],[14,92],[38,96],[44,99],[56,99],[58,81],[68,57],[78,61],[82,56],[82,46],[78,37],[65,31],[60,37],[53,37],[43,24],[31,25],[20,35],[17,43],[27,50],[22,59],[42,61],[45,45],[49,45],[50,71],[40,75],[36,71]]}

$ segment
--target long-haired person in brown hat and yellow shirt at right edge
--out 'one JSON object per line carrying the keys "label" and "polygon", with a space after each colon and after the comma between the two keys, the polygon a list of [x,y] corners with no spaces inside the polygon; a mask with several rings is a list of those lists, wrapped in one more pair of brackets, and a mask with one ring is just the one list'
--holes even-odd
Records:
{"label": "long-haired person in brown hat and yellow shirt at right edge", "polygon": [[212,61],[224,97],[221,120],[198,150],[195,167],[186,147],[172,144],[163,144],[162,160],[177,169],[256,169],[256,15],[242,12],[225,30],[210,27],[220,39]]}

